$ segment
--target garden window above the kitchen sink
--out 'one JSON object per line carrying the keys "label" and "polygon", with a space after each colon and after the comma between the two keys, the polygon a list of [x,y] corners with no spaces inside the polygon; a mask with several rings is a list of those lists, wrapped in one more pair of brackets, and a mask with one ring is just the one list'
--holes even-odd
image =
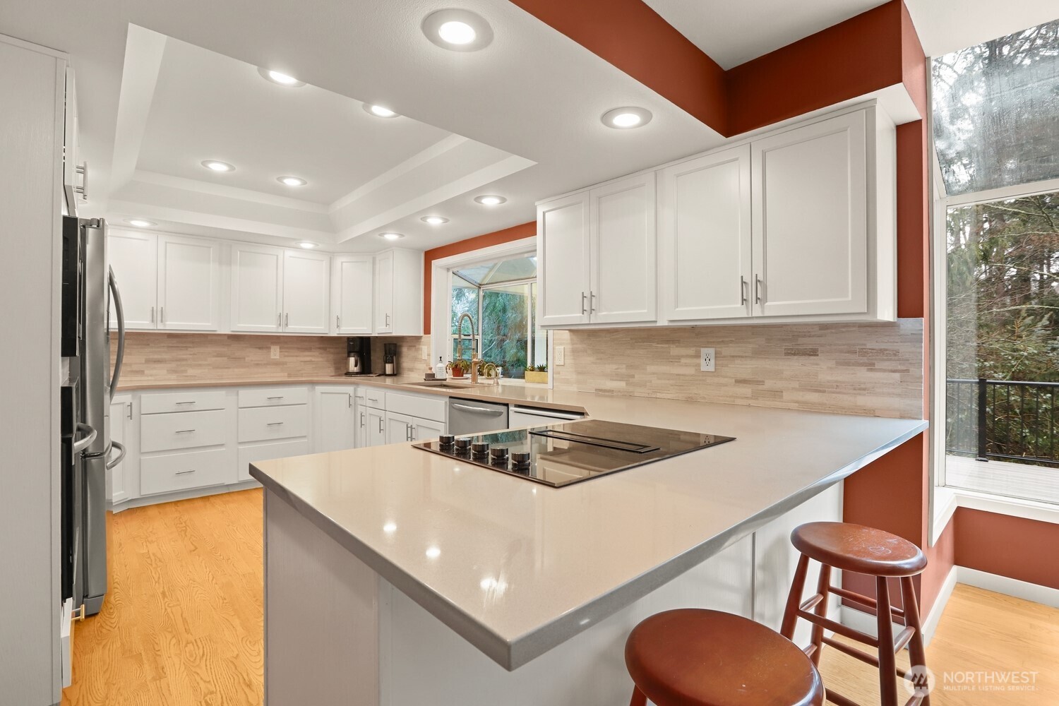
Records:
{"label": "garden window above the kitchen sink", "polygon": [[505,378],[523,378],[530,366],[548,369],[548,332],[537,326],[536,255],[452,270],[451,302],[452,360],[477,354]]}

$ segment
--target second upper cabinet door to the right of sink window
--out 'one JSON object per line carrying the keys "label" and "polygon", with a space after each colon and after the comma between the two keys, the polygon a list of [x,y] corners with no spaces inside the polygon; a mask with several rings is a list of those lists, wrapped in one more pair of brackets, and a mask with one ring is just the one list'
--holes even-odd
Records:
{"label": "second upper cabinet door to the right of sink window", "polygon": [[654,175],[593,188],[589,199],[592,323],[656,321]]}

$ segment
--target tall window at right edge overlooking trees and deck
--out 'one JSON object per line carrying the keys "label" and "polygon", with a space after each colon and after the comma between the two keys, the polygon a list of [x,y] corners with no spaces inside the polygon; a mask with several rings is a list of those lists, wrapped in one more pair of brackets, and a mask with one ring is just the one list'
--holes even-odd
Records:
{"label": "tall window at right edge overlooking trees and deck", "polygon": [[935,58],[931,84],[941,481],[1059,503],[1059,20]]}

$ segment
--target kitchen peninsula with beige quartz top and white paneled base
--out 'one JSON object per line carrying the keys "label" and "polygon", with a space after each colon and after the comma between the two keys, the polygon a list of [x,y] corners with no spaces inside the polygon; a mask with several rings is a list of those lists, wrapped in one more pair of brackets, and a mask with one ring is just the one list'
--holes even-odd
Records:
{"label": "kitchen peninsula with beige quartz top and white paneled base", "polygon": [[269,706],[627,701],[625,637],[708,607],[778,627],[790,529],[911,419],[569,394],[735,441],[561,488],[398,443],[253,464]]}

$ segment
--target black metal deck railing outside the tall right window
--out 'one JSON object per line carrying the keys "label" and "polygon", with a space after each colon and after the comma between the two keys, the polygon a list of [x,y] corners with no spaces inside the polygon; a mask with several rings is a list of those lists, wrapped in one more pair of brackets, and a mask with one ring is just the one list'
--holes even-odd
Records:
{"label": "black metal deck railing outside the tall right window", "polygon": [[1059,467],[1059,382],[949,379],[946,451]]}

